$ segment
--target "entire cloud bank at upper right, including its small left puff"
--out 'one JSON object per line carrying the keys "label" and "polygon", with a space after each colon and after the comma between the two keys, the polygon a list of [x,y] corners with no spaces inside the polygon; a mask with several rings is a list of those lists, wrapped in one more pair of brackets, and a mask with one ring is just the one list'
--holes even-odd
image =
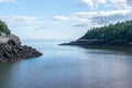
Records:
{"label": "entire cloud bank at upper right, including its small left puff", "polygon": [[[54,16],[74,26],[101,26],[132,20],[132,0],[79,0],[89,11]],[[101,8],[101,9],[100,9]]]}

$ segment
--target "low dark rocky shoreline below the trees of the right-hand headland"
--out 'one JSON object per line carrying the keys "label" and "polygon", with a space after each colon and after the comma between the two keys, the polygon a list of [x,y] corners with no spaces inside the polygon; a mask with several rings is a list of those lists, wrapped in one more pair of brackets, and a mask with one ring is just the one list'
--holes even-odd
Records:
{"label": "low dark rocky shoreline below the trees of the right-hand headland", "polygon": [[87,46],[87,45],[110,45],[110,46],[125,46],[132,47],[132,41],[125,40],[113,40],[113,41],[105,41],[105,40],[77,40],[75,42],[63,43],[59,45],[79,45],[79,46]]}

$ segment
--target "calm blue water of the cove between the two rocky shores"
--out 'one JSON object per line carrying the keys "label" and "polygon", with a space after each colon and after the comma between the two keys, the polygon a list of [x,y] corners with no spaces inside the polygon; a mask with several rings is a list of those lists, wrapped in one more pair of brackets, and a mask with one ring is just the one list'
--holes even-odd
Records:
{"label": "calm blue water of the cove between the two rocky shores", "polygon": [[44,55],[0,64],[0,88],[132,88],[132,51],[23,41]]}

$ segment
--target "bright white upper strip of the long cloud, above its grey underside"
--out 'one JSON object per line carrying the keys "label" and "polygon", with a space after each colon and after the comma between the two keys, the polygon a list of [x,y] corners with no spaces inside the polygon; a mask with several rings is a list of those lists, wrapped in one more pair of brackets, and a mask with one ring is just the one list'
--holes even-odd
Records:
{"label": "bright white upper strip of the long cloud, above its grey underside", "polygon": [[73,15],[75,20],[78,21],[89,21],[89,19],[95,16],[111,16],[111,15],[125,15],[132,13],[131,10],[113,10],[113,11],[94,11],[94,12],[76,12]]}

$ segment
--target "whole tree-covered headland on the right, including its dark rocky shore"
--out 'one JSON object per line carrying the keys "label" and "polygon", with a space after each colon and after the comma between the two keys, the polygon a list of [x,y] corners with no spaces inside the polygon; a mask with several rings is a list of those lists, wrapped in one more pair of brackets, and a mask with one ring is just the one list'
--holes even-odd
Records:
{"label": "whole tree-covered headland on the right, including its dark rocky shore", "polygon": [[77,41],[61,45],[114,45],[132,47],[132,21],[94,28]]}

